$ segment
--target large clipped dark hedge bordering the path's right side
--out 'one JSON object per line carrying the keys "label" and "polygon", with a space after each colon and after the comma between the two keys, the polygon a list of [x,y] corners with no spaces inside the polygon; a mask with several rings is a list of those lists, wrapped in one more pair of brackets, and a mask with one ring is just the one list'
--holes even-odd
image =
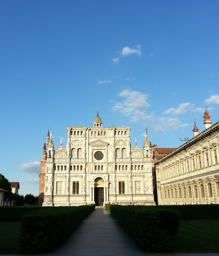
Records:
{"label": "large clipped dark hedge bordering the path's right side", "polygon": [[170,209],[105,205],[144,251],[170,252],[179,226],[179,214]]}

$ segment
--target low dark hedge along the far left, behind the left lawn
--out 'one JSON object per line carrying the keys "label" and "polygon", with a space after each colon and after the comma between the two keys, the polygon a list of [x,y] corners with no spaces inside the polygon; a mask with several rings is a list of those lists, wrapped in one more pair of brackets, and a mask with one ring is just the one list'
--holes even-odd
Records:
{"label": "low dark hedge along the far left, behind the left lawn", "polygon": [[22,215],[26,214],[27,212],[39,210],[42,207],[0,207],[0,221],[21,221]]}

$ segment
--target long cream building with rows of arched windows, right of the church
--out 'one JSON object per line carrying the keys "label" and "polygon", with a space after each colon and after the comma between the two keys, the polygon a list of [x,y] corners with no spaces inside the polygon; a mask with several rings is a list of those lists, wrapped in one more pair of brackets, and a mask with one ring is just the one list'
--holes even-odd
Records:
{"label": "long cream building with rows of arched windows, right of the church", "polygon": [[219,203],[219,122],[211,126],[206,110],[204,125],[199,134],[195,124],[194,138],[182,146],[154,156],[159,205]]}

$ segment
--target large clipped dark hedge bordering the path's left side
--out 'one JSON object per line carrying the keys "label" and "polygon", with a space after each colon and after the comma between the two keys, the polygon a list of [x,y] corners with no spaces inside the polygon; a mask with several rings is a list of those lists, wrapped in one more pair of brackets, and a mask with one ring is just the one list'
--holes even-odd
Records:
{"label": "large clipped dark hedge bordering the path's left side", "polygon": [[22,217],[19,253],[47,253],[62,244],[95,209],[95,204],[78,207],[48,207]]}

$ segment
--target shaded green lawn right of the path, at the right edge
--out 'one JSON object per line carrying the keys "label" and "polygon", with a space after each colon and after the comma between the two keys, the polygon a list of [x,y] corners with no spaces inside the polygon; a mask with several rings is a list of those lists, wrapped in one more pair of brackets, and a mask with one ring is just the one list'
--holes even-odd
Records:
{"label": "shaded green lawn right of the path, at the right edge", "polygon": [[174,252],[219,252],[219,219],[180,221]]}

